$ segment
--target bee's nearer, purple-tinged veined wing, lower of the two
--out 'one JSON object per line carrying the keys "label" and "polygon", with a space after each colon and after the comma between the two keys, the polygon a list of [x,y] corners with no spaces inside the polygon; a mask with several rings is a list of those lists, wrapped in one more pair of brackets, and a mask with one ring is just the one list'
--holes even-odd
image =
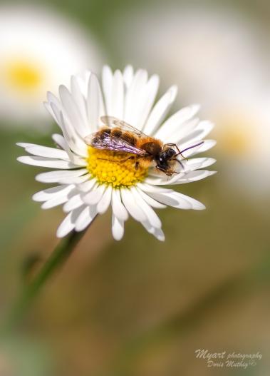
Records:
{"label": "bee's nearer, purple-tinged veined wing, lower of the two", "polygon": [[136,154],[137,156],[145,156],[146,151],[132,145],[123,138],[113,136],[106,132],[96,132],[86,136],[84,139],[87,145],[96,149],[123,151],[125,153]]}

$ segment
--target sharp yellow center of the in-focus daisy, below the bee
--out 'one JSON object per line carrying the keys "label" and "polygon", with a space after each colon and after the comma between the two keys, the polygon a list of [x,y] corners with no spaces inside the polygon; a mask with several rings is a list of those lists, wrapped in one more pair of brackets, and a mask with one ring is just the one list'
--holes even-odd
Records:
{"label": "sharp yellow center of the in-focus daisy, below the bee", "polygon": [[115,188],[130,187],[142,181],[147,168],[135,168],[134,159],[129,153],[88,148],[87,169],[99,183],[110,184]]}

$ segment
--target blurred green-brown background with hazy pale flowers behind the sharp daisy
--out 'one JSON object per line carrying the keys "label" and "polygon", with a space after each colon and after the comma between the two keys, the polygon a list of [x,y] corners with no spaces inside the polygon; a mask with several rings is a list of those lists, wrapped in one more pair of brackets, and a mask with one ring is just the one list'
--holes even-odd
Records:
{"label": "blurred green-brown background with hazy pale flowers behind the sharp daisy", "polygon": [[[43,0],[0,4],[0,310],[56,246],[61,208],[31,195],[40,168],[16,142],[51,146],[42,101],[69,77],[131,63],[179,86],[216,123],[217,175],[181,186],[203,212],[160,211],[159,243],[110,213],[91,226],[21,325],[0,342],[0,376],[256,375],[270,372],[270,3]],[[207,367],[209,352],[260,352],[256,365]]]}

